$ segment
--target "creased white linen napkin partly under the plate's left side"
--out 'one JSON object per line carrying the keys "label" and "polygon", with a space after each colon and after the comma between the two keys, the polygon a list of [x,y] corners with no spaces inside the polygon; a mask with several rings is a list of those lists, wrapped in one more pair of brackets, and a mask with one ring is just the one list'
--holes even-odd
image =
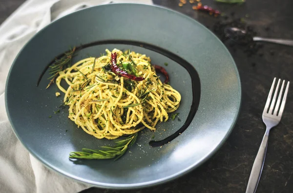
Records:
{"label": "creased white linen napkin partly under the plate's left side", "polygon": [[51,21],[98,4],[151,0],[27,0],[0,26],[0,193],[77,193],[88,184],[46,168],[17,139],[8,121],[4,90],[22,46]]}

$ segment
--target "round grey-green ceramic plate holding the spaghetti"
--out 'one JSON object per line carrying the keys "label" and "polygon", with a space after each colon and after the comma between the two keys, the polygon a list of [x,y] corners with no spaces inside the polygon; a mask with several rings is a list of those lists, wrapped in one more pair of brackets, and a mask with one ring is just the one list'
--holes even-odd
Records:
{"label": "round grey-green ceramic plate holding the spaghetti", "polygon": [[[54,114],[62,97],[49,75],[36,83],[56,56],[96,42],[78,52],[75,61],[100,56],[105,49],[130,49],[166,67],[170,84],[182,95],[172,121],[159,123],[157,132],[145,129],[137,143],[119,160],[69,160],[70,151],[96,149],[112,141],[96,139],[67,118],[67,109]],[[194,87],[194,93],[192,93]],[[49,168],[74,179],[106,188],[134,188],[174,179],[198,167],[215,153],[230,134],[241,101],[237,68],[228,50],[207,28],[166,8],[141,4],[92,7],[59,19],[34,36],[15,59],[6,84],[6,109],[12,127],[27,150]],[[198,106],[191,123],[163,147],[148,142],[175,133]],[[49,118],[52,116],[52,118]],[[166,131],[165,131],[166,130]]]}

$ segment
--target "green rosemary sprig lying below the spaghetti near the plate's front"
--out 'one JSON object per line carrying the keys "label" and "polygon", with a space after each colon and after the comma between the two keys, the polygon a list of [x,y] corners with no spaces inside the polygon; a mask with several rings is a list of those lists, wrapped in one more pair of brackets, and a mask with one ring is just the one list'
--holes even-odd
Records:
{"label": "green rosemary sprig lying below the spaghetti near the plate's front", "polygon": [[103,150],[91,150],[83,148],[82,152],[70,152],[69,158],[76,159],[119,159],[124,155],[127,149],[132,146],[137,138],[137,133],[129,135],[125,139],[116,139],[116,145],[113,147],[102,146]]}

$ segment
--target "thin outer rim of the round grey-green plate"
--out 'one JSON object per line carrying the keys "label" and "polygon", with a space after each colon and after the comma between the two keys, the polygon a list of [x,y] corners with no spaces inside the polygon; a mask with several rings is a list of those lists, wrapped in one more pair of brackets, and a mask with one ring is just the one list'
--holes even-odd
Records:
{"label": "thin outer rim of the round grey-green plate", "polygon": [[[227,53],[229,53],[229,57],[230,57],[233,65],[234,65],[234,70],[235,70],[235,75],[237,77],[237,82],[239,84],[239,87],[238,87],[239,102],[238,102],[238,105],[236,107],[237,108],[237,113],[236,113],[235,117],[233,118],[233,122],[230,125],[230,128],[229,128],[228,132],[226,133],[226,135],[221,139],[221,141],[219,142],[219,144],[207,156],[203,157],[198,162],[194,162],[193,165],[189,166],[188,168],[185,168],[184,170],[181,170],[180,172],[178,172],[176,174],[169,175],[167,177],[160,178],[160,179],[157,179],[157,180],[151,180],[151,181],[147,181],[147,182],[134,183],[134,184],[115,184],[115,183],[109,184],[109,183],[101,183],[101,182],[96,182],[96,181],[94,182],[94,181],[86,180],[84,178],[81,178],[81,177],[78,177],[78,176],[69,174],[67,172],[64,172],[63,170],[60,170],[59,168],[52,166],[50,163],[47,163],[45,160],[39,158],[33,151],[30,151],[29,148],[26,146],[26,144],[23,143],[23,141],[21,140],[20,136],[17,134],[17,132],[16,132],[16,130],[14,128],[13,122],[11,121],[11,117],[10,117],[10,113],[9,113],[8,105],[7,105],[7,97],[8,97],[7,96],[7,85],[8,85],[9,79],[10,79],[10,74],[12,72],[13,66],[16,63],[16,59],[19,57],[20,53],[24,50],[24,48],[27,46],[27,44],[30,41],[32,41],[43,30],[46,30],[48,27],[50,27],[51,24],[53,24],[55,22],[58,22],[60,19],[69,17],[72,14],[76,14],[77,12],[86,11],[88,9],[95,9],[95,7],[113,6],[113,5],[119,5],[119,4],[139,5],[139,6],[148,6],[148,7],[154,7],[154,8],[164,9],[167,12],[175,13],[176,15],[178,15],[180,17],[183,17],[185,19],[189,19],[191,22],[196,23],[196,25],[199,25],[199,26],[203,27],[204,29],[206,29],[206,31],[208,31],[211,36],[215,37],[218,40],[218,42],[224,47],[225,51]],[[241,86],[241,79],[240,79],[239,71],[238,71],[238,68],[237,68],[237,65],[236,65],[234,59],[232,58],[232,56],[231,56],[228,48],[225,46],[225,44],[214,33],[212,33],[207,27],[205,27],[203,24],[201,24],[196,19],[193,19],[193,18],[189,17],[188,15],[185,15],[185,14],[183,14],[181,12],[176,11],[176,10],[172,10],[170,8],[167,8],[167,7],[164,7],[164,6],[161,6],[161,5],[155,5],[155,4],[143,4],[143,3],[111,3],[111,4],[102,4],[102,5],[96,5],[96,6],[88,7],[88,8],[85,8],[85,9],[82,9],[82,10],[79,10],[79,11],[76,11],[76,12],[73,12],[73,13],[70,13],[70,14],[68,14],[66,16],[63,16],[62,18],[59,18],[59,19],[56,19],[56,20],[52,21],[51,23],[49,23],[48,25],[46,25],[45,27],[43,27],[40,31],[38,31],[31,39],[29,39],[23,45],[23,47],[21,48],[21,50],[19,51],[19,53],[15,57],[12,65],[11,65],[11,67],[9,69],[9,72],[8,72],[8,75],[7,75],[7,79],[6,79],[6,83],[5,83],[5,109],[6,109],[6,113],[7,113],[8,120],[9,120],[11,126],[12,126],[12,129],[13,129],[14,134],[17,136],[18,140],[21,141],[21,144],[25,147],[25,149],[29,152],[29,154],[31,154],[34,158],[36,158],[38,161],[40,161],[46,168],[48,168],[50,170],[53,170],[55,172],[58,172],[58,174],[62,174],[66,178],[70,178],[70,179],[73,179],[73,180],[75,180],[77,182],[81,182],[81,183],[84,183],[84,184],[87,184],[87,185],[93,185],[93,186],[96,186],[96,187],[106,188],[106,189],[121,189],[121,190],[122,189],[128,189],[129,190],[129,189],[138,189],[138,188],[151,187],[151,186],[163,184],[163,183],[169,182],[171,180],[174,180],[174,179],[176,179],[178,177],[181,177],[181,176],[183,176],[185,174],[188,174],[189,172],[193,171],[194,169],[200,167],[203,163],[205,163],[207,160],[209,160],[209,158],[211,156],[213,156],[223,146],[223,144],[225,143],[225,141],[230,136],[230,134],[231,134],[231,132],[232,132],[232,130],[233,130],[235,124],[236,124],[236,121],[237,121],[237,119],[239,117],[241,103],[242,103],[242,86]]]}

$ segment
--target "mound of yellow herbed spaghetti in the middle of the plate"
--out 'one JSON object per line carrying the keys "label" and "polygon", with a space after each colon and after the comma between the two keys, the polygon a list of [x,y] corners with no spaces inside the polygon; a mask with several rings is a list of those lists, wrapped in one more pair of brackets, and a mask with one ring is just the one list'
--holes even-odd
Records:
{"label": "mound of yellow herbed spaghetti in the middle of the plate", "polygon": [[[131,80],[111,71],[111,54],[117,66],[140,78]],[[65,80],[67,89],[61,86]],[[144,128],[156,130],[158,121],[167,121],[177,110],[181,95],[156,75],[150,58],[135,52],[106,50],[99,58],[85,58],[59,73],[58,88],[65,94],[69,118],[84,132],[97,138],[115,139]]]}

